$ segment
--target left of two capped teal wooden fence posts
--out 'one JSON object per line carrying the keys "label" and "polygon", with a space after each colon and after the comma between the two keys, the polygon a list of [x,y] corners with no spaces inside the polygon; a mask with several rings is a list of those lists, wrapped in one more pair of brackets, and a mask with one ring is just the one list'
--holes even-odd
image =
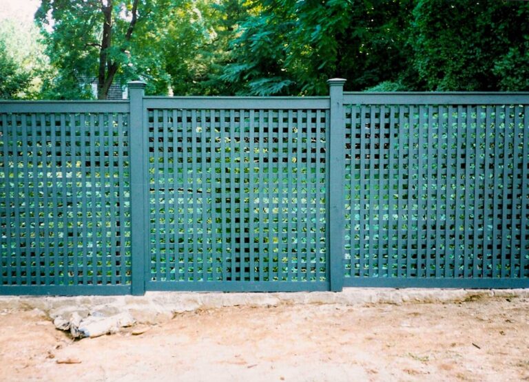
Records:
{"label": "left of two capped teal wooden fence posts", "polygon": [[143,96],[145,83],[132,81],[128,83],[130,118],[129,118],[129,160],[130,160],[130,209],[132,235],[132,295],[145,293],[145,273],[147,270],[146,204],[147,196],[147,125],[144,123]]}

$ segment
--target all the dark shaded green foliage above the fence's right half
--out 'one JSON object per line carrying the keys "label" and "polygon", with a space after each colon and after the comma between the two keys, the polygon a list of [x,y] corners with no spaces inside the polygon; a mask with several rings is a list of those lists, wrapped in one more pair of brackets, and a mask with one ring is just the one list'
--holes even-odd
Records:
{"label": "all the dark shaded green foliage above the fence's right half", "polygon": [[[264,0],[222,78],[240,94],[527,89],[529,3]],[[374,87],[374,88],[373,88]]]}

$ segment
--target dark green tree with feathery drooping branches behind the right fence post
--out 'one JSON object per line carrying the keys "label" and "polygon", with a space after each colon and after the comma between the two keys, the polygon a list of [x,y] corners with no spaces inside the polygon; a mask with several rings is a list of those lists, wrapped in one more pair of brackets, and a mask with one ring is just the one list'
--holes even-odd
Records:
{"label": "dark green tree with feathery drooping branches behind the right fence post", "polygon": [[[406,65],[413,0],[264,0],[242,23],[223,78],[242,94],[326,94],[326,80],[360,90]],[[404,31],[404,32],[403,32]]]}

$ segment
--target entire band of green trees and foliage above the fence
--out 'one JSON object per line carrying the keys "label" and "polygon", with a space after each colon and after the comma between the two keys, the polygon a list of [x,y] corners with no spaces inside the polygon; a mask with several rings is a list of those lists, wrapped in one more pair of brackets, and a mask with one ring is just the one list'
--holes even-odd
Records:
{"label": "entire band of green trees and foliage above the fence", "polygon": [[333,77],[355,91],[521,91],[528,19],[524,1],[42,0],[49,59],[34,32],[3,40],[32,78],[25,98],[91,98],[94,80],[104,98],[138,78],[157,95],[322,95]]}

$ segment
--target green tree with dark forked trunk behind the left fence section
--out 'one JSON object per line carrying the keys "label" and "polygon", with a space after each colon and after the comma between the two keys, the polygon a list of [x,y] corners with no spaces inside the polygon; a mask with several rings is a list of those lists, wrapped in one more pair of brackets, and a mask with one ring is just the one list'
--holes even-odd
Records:
{"label": "green tree with dark forked trunk behind the left fence section", "polygon": [[[97,97],[107,98],[110,85],[141,76],[156,56],[134,36],[163,30],[169,0],[42,0],[35,15],[50,61],[58,72],[56,88],[86,96],[87,82],[97,81]],[[164,12],[160,12],[164,10]],[[138,41],[136,41],[138,40]],[[145,39],[143,39],[145,43]],[[156,50],[156,46],[152,47]]]}

